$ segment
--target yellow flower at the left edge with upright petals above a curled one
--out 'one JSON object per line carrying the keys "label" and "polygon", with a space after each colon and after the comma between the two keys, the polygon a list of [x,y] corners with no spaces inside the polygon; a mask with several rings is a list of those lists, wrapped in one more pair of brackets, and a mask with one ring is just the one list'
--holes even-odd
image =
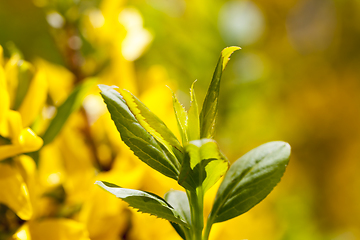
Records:
{"label": "yellow flower at the left edge with upright petals above a curled one", "polygon": [[[0,54],[2,54],[1,46],[0,49]],[[0,58],[2,59],[2,55]],[[23,90],[21,85],[23,82],[19,81],[18,75],[22,66],[28,70],[30,68],[28,65],[18,55],[11,57],[5,65],[5,70],[0,65],[0,135],[3,140],[0,143],[0,160],[36,151],[43,144],[42,139],[29,128],[29,125],[45,103],[46,79],[39,71],[28,84],[28,89]],[[19,97],[15,95],[15,91],[26,92],[26,94],[18,94],[23,95]],[[18,102],[18,99],[22,100],[21,104],[18,104],[17,111],[12,110],[11,107]]]}

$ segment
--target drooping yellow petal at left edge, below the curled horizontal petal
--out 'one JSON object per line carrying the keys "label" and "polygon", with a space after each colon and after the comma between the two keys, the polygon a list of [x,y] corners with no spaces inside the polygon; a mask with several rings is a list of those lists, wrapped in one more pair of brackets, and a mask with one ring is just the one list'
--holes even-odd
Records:
{"label": "drooping yellow petal at left edge, below the curled horizontal petal", "polygon": [[0,202],[11,208],[21,219],[33,214],[29,193],[19,171],[10,164],[0,164]]}

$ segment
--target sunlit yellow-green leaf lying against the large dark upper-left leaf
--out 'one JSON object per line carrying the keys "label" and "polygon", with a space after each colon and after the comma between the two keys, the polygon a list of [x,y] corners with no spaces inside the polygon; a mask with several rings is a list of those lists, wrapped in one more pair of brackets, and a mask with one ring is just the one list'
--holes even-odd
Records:
{"label": "sunlit yellow-green leaf lying against the large dark upper-left leaf", "polygon": [[136,120],[166,148],[165,151],[173,155],[169,155],[169,158],[173,164],[180,169],[181,162],[176,156],[179,156],[179,159],[182,160],[183,149],[175,135],[167,128],[165,123],[153,114],[137,97],[127,90],[119,91]]}

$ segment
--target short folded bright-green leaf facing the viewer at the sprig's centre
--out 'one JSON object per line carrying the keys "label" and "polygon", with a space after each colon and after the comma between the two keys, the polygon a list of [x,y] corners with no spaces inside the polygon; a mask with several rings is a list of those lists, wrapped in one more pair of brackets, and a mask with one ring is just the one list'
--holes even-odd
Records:
{"label": "short folded bright-green leaf facing the viewer at the sprig's centre", "polygon": [[179,184],[190,191],[202,186],[203,193],[227,171],[229,162],[212,139],[194,140],[185,146]]}

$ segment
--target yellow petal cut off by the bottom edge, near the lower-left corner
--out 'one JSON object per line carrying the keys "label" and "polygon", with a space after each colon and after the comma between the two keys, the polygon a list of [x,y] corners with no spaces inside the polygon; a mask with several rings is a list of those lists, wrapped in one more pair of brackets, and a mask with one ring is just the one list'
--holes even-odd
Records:
{"label": "yellow petal cut off by the bottom edge, near the lower-left corner", "polygon": [[17,240],[89,240],[82,223],[71,219],[47,219],[25,223],[14,235]]}

